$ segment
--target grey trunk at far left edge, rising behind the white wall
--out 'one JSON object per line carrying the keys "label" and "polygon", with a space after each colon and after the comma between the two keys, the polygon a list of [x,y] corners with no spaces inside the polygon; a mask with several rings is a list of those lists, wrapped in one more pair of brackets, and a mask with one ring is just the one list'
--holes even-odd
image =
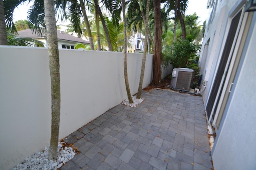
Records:
{"label": "grey trunk at far left edge, rising behind the white wall", "polygon": [[4,2],[0,0],[0,45],[8,45],[6,24],[4,21]]}

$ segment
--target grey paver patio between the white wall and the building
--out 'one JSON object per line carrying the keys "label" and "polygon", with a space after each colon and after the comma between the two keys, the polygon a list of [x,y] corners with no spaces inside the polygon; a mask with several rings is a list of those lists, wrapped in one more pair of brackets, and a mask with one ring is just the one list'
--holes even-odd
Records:
{"label": "grey paver patio between the white wall and the building", "polygon": [[137,107],[119,104],[67,137],[80,151],[62,170],[210,170],[202,97],[142,91]]}

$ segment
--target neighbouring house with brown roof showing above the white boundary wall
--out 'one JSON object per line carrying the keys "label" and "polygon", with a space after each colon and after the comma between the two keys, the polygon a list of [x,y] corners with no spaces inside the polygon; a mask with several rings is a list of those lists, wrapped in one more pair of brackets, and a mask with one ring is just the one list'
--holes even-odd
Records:
{"label": "neighbouring house with brown roof showing above the white boundary wall", "polygon": [[[78,37],[74,37],[73,35],[69,35],[63,31],[57,30],[58,36],[58,47],[59,49],[74,49],[75,44],[83,43],[84,45],[90,45],[90,42],[80,39]],[[47,37],[44,33],[42,36],[39,34],[33,33],[30,29],[24,29],[22,31],[18,31],[18,37],[29,37],[39,41],[42,41],[47,46]]]}

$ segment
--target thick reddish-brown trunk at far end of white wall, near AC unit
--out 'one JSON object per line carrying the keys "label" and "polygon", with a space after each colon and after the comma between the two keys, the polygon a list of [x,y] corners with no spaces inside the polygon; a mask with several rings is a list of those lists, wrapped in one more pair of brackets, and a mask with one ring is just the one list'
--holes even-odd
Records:
{"label": "thick reddish-brown trunk at far end of white wall, near AC unit", "polygon": [[156,86],[161,80],[161,55],[162,55],[162,21],[161,21],[161,3],[160,0],[153,0],[154,19],[155,19],[155,39],[154,39],[154,57],[153,57],[153,80]]}

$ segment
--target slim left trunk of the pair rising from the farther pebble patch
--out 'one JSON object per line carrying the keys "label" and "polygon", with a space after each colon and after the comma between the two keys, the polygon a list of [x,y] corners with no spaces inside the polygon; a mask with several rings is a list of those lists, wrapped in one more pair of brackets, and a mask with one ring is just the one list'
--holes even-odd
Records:
{"label": "slim left trunk of the pair rising from the farther pebble patch", "polygon": [[129,81],[128,81],[128,72],[127,72],[127,35],[126,35],[126,18],[125,18],[125,0],[122,0],[122,8],[123,8],[123,18],[124,18],[124,81],[125,81],[125,87],[126,92],[128,96],[129,103],[132,104],[132,95],[129,87]]}

